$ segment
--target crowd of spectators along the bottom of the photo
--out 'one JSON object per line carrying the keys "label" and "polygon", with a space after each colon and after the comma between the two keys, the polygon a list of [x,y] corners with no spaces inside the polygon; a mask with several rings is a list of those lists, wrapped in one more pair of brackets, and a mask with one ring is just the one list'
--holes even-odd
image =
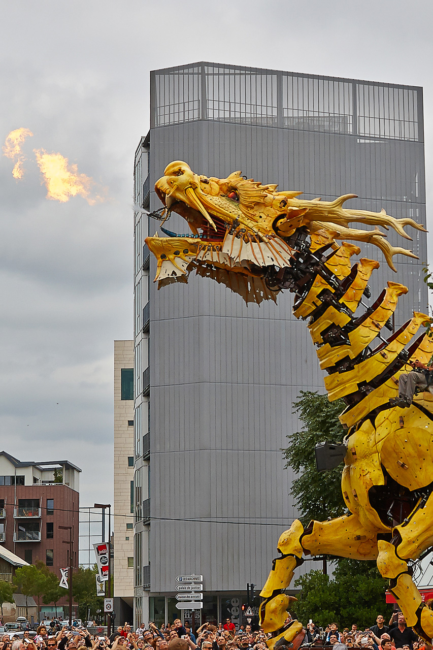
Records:
{"label": "crowd of spectators along the bottom of the photo", "polygon": [[[286,623],[290,623],[290,618]],[[237,628],[230,620],[212,625],[204,623],[195,632],[189,621],[180,619],[157,627],[141,623],[136,630],[129,623],[120,625],[111,636],[91,634],[84,627],[62,627],[54,632],[44,625],[36,630],[34,639],[1,637],[0,650],[267,650],[267,635],[251,625]],[[329,650],[424,650],[425,642],[406,626],[403,614],[393,614],[388,625],[379,614],[376,624],[359,630],[356,623],[339,630],[337,623],[322,629],[309,621],[302,645],[322,646]]]}

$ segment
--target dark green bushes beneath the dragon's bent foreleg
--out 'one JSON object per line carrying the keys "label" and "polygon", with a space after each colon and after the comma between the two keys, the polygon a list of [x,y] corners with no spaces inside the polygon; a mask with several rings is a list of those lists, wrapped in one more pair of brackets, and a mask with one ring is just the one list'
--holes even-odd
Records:
{"label": "dark green bushes beneath the dragon's bent foreleg", "polygon": [[365,629],[374,624],[378,613],[386,620],[392,614],[393,606],[386,604],[386,584],[376,562],[340,558],[332,577],[309,571],[295,580],[295,587],[301,591],[291,610],[304,625],[312,618],[321,627],[335,622],[340,629],[352,623]]}

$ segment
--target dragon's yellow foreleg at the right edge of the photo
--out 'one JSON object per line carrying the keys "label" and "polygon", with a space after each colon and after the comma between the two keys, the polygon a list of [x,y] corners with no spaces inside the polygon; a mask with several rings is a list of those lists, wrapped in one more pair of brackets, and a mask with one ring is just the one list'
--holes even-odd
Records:
{"label": "dragon's yellow foreleg at the right edge of the photo", "polygon": [[433,611],[430,603],[423,603],[412,580],[412,571],[406,560],[418,558],[433,545],[433,495],[426,503],[418,504],[404,523],[393,529],[392,543],[379,541],[377,565],[384,578],[389,579],[393,593],[406,618],[407,625],[431,643],[433,638]]}

